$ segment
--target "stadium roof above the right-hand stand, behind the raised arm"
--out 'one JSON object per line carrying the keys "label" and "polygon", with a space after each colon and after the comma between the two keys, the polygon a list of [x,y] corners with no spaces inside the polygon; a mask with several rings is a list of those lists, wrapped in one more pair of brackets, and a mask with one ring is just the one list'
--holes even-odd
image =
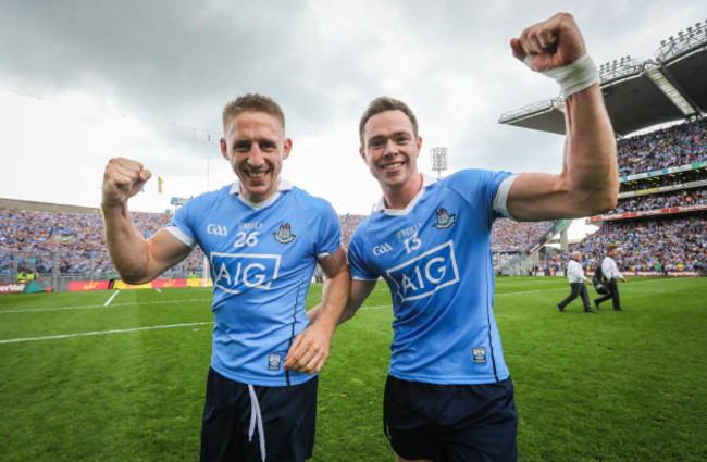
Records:
{"label": "stadium roof above the right-hand stand, behind the raised arm", "polygon": [[[707,21],[660,42],[655,59],[631,57],[599,67],[600,88],[618,137],[707,114]],[[565,134],[561,97],[503,114],[501,124]]]}

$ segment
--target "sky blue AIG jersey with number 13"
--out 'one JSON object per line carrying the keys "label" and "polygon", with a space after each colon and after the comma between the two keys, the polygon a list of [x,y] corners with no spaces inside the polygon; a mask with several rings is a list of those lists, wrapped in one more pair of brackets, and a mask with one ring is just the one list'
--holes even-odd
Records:
{"label": "sky blue AIG jersey with number 13", "polygon": [[[432,384],[506,379],[494,319],[493,210],[507,172],[467,170],[423,188],[405,210],[383,201],[354,232],[351,277],[382,276],[393,296],[390,375]],[[505,201],[504,201],[505,202]]]}

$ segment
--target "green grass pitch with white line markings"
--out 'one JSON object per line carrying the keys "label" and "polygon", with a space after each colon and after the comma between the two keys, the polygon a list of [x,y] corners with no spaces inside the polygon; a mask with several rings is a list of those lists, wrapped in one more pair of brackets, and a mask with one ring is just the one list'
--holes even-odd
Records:
{"label": "green grass pitch with white line markings", "polygon": [[[707,460],[707,278],[620,290],[625,313],[585,314],[579,300],[560,313],[566,278],[496,280],[521,461]],[[210,289],[122,290],[106,305],[112,295],[0,296],[1,460],[198,460]],[[393,460],[381,423],[392,321],[379,285],[337,329],[312,461]]]}

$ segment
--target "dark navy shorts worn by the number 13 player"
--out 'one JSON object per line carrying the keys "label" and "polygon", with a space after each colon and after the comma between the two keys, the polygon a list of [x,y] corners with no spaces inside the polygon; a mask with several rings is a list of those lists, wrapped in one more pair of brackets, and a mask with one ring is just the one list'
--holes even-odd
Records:
{"label": "dark navy shorts worn by the number 13 player", "polygon": [[383,425],[405,459],[516,462],[513,383],[437,385],[388,375]]}

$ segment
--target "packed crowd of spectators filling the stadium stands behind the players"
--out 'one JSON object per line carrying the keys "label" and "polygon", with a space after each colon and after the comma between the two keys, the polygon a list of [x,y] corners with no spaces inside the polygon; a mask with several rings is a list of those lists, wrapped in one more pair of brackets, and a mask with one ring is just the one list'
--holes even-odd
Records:
{"label": "packed crowd of spectators filling the stadium stands behind the players", "polygon": [[[650,199],[650,198],[646,198]],[[653,200],[624,201],[619,211],[648,210],[683,203],[707,203],[707,191],[690,195],[673,193]],[[134,213],[134,221],[145,236],[149,236],[170,220],[159,213]],[[343,245],[348,241],[363,215],[340,215]],[[497,220],[492,234],[495,264],[501,264],[518,252],[526,250],[554,226],[554,222],[516,223]],[[0,274],[13,274],[23,269],[33,273],[59,272],[63,274],[108,273],[112,267],[106,250],[103,222],[99,214],[37,212],[0,208]],[[584,266],[593,269],[604,257],[609,244],[618,244],[617,258],[623,271],[707,269],[707,236],[705,216],[680,220],[656,218],[643,222],[607,222],[571,250],[586,255]],[[546,274],[562,270],[568,259],[563,252],[538,265]],[[203,271],[203,253],[197,248],[174,271]]]}

